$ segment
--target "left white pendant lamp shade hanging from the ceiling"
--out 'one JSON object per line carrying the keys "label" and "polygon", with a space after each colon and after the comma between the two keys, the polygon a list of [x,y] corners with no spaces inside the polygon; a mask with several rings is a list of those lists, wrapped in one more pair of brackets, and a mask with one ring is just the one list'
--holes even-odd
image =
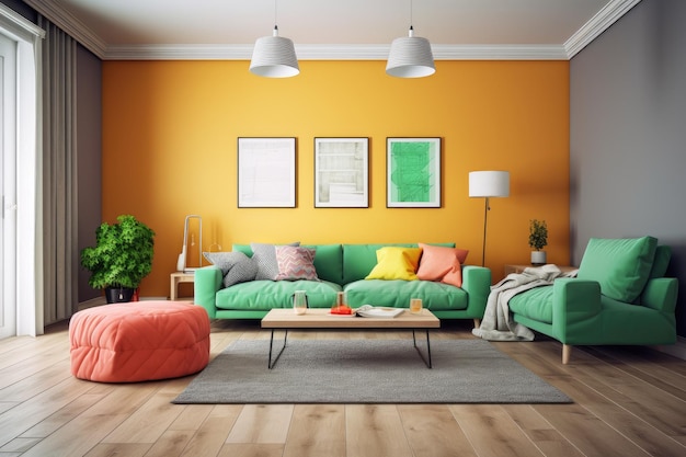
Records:
{"label": "left white pendant lamp shade hanging from the ceiling", "polygon": [[283,36],[263,36],[255,42],[250,71],[267,78],[288,78],[300,72],[293,41]]}

